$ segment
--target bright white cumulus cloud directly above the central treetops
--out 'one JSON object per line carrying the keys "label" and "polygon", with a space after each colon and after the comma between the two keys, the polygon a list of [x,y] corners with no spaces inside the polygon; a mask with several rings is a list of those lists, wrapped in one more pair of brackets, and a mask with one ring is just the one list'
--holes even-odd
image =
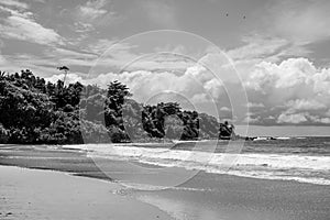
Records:
{"label": "bright white cumulus cloud directly above the central treetops", "polygon": [[[152,61],[156,63],[156,59]],[[186,64],[185,68],[175,72],[172,70],[174,67],[167,68],[167,70],[166,68],[160,69],[160,67],[157,70],[151,70],[148,69],[151,66],[146,66],[146,68],[143,68],[143,66],[141,65],[140,69],[123,70],[119,74],[108,72],[89,75],[84,77],[81,82],[96,84],[106,88],[110,81],[119,80],[128,85],[133,98],[139,102],[145,102],[158,96],[164,97],[165,92],[172,91],[170,94],[185,97],[185,100],[190,102],[187,107],[193,105],[200,112],[208,112],[213,116],[219,112],[216,109],[231,106],[224,85],[202,65],[190,63],[189,65]],[[227,117],[228,119],[233,117],[231,111],[221,111],[220,114],[222,118]]]}

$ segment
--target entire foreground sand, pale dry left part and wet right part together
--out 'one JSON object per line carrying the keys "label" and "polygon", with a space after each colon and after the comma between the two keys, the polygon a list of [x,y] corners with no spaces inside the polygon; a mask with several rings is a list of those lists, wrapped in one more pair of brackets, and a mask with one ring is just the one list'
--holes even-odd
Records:
{"label": "entire foreground sand, pale dry left part and wet right part together", "polygon": [[[9,172],[3,173],[3,169]],[[54,169],[0,165],[0,176],[7,177],[0,179],[0,204],[6,200],[0,215],[3,219],[131,220],[140,215],[146,220],[216,220],[220,217],[226,220],[327,220],[330,213],[327,208],[330,187],[297,182],[199,173],[175,188],[131,191],[114,182]],[[4,188],[8,185],[16,187],[14,196],[4,195],[10,191]],[[37,191],[40,188],[42,191]],[[18,195],[25,197],[15,197]],[[125,216],[123,212],[129,207],[134,208]]]}

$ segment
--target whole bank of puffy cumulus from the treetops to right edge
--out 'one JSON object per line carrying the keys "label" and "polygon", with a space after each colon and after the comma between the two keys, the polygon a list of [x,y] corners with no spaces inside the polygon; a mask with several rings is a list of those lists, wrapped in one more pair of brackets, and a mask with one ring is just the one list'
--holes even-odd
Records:
{"label": "whole bank of puffy cumulus from the treetops to right edge", "polygon": [[[208,107],[219,102],[220,114],[228,118],[235,117],[237,123],[267,125],[330,123],[329,68],[318,68],[307,58],[288,58],[278,64],[258,63],[251,67],[244,78],[249,102],[237,101],[249,107],[250,112],[242,111],[242,117],[237,118],[237,114],[233,116],[237,108],[231,106],[230,100],[224,100],[224,97],[229,87],[232,86],[231,91],[235,91],[238,85],[231,84],[230,78],[221,81],[215,77],[213,73],[204,66],[205,58],[202,65],[194,64],[183,68],[182,72],[165,70],[165,67],[162,70],[143,69],[142,65],[140,70],[136,68],[120,74],[103,73],[90,78],[74,73],[68,75],[67,81],[97,84],[105,88],[110,81],[120,80],[128,85],[134,95],[133,98],[140,102],[172,91],[184,96],[206,112]],[[220,63],[217,67],[222,68],[223,65]],[[223,73],[229,73],[227,68],[223,69]],[[56,81],[63,78],[64,75],[57,75],[48,80]],[[241,97],[233,94],[232,98]]]}

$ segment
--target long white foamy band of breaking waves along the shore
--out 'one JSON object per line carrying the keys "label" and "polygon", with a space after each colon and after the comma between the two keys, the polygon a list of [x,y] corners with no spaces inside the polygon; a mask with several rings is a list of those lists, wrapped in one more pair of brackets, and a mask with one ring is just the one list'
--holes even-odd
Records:
{"label": "long white foamy band of breaking waves along the shore", "polygon": [[227,154],[116,144],[87,144],[77,147],[88,150],[90,157],[134,160],[156,166],[184,167],[215,174],[330,185],[330,156]]}

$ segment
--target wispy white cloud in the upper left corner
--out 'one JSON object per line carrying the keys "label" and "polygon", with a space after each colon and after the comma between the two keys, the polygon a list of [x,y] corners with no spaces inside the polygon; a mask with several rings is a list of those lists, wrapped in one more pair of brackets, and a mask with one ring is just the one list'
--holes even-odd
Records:
{"label": "wispy white cloud in the upper left corner", "polygon": [[32,12],[0,6],[1,10],[9,13],[8,16],[0,19],[0,35],[2,37],[45,45],[64,43],[64,38],[53,29],[44,28],[37,23]]}

